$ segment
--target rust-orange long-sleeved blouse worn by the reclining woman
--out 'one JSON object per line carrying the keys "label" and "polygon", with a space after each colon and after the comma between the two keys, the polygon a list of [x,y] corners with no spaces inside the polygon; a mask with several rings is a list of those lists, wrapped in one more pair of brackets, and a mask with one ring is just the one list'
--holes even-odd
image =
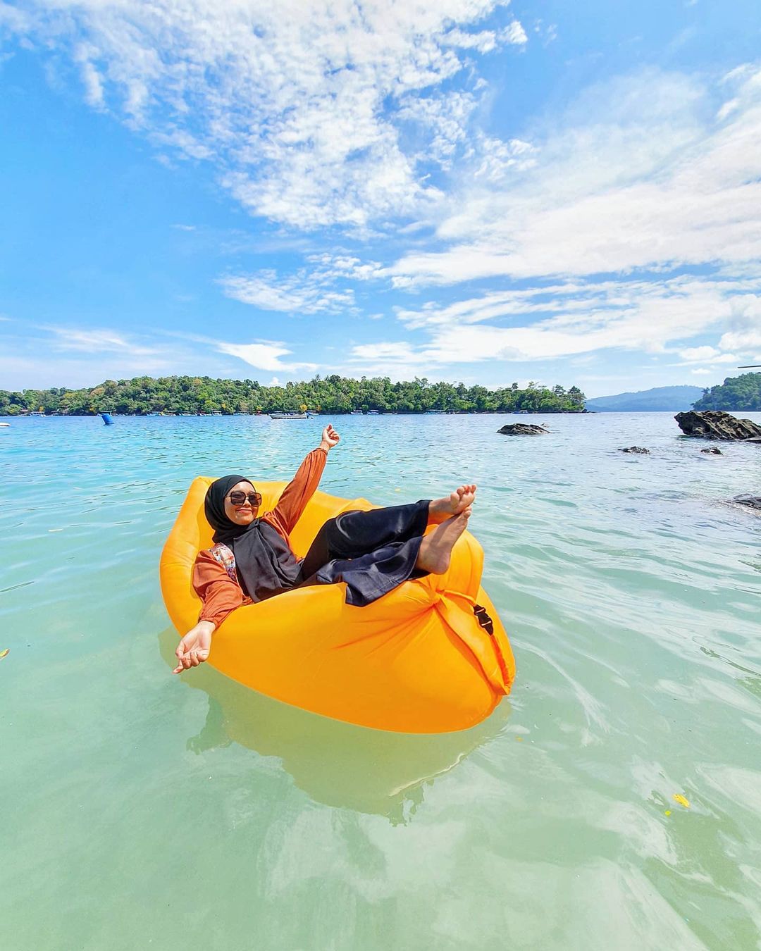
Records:
{"label": "rust-orange long-sleeved blouse worn by the reclining woman", "polygon": [[[283,489],[283,495],[272,512],[261,517],[290,544],[288,535],[302,516],[306,503],[320,484],[327,450],[313,449],[303,460],[299,471]],[[224,618],[249,599],[224,565],[210,551],[199,552],[193,565],[193,588],[204,602],[199,621],[211,621],[218,628]]]}

